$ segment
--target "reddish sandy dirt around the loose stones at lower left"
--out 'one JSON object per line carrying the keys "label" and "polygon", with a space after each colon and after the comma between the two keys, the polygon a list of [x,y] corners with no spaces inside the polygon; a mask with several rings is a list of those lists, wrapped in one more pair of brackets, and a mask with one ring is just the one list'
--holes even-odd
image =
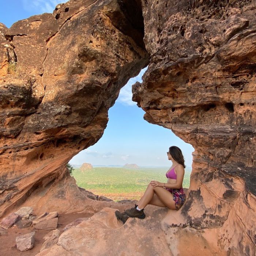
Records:
{"label": "reddish sandy dirt around the loose stones at lower left", "polygon": [[[59,214],[59,219],[58,219],[58,226],[57,229],[60,230],[60,233],[63,232],[64,227],[74,221],[75,219],[78,218],[84,218],[84,217],[90,217],[93,214],[86,214],[86,213],[71,213],[71,214]],[[7,234],[0,236],[0,255],[1,256],[34,256],[36,255],[42,244],[44,243],[43,237],[49,233],[51,230],[35,230],[35,242],[34,242],[34,247],[30,250],[20,252],[16,248],[16,237],[17,236],[22,236],[23,234],[30,233],[34,231],[33,225],[31,225],[28,228],[24,229],[19,229],[18,226],[10,227],[7,230]]]}

